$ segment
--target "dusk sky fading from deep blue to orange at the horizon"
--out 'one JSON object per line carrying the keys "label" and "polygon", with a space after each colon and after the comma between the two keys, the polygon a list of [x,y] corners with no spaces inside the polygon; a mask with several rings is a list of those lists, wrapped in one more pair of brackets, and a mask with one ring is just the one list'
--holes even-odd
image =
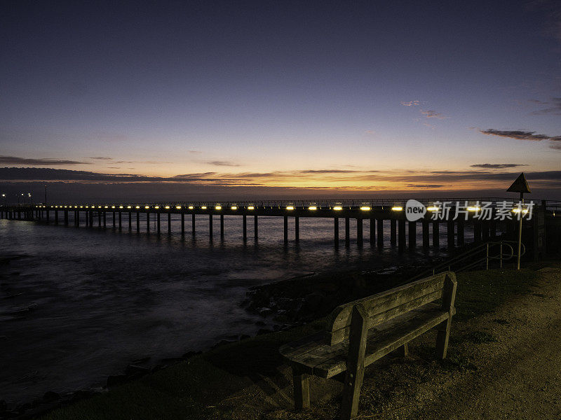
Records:
{"label": "dusk sky fading from deep blue to orange at the horizon", "polygon": [[558,1],[3,1],[0,190],[561,200],[560,63]]}

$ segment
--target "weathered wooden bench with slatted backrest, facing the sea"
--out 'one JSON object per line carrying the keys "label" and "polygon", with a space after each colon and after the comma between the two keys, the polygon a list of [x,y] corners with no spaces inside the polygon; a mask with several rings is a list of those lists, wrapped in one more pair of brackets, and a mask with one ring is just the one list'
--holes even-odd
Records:
{"label": "weathered wooden bench with slatted backrest, facing the sea", "polygon": [[[280,347],[294,375],[295,408],[310,405],[309,375],[344,384],[342,419],[358,412],[364,369],[436,328],[436,354],[446,357],[456,296],[456,276],[445,272],[342,304],[327,317],[326,330]],[[436,303],[435,300],[442,300]]]}

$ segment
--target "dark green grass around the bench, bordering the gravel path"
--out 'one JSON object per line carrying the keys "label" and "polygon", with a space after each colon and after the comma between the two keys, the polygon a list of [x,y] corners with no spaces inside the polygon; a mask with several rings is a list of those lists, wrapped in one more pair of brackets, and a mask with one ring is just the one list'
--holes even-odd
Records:
{"label": "dark green grass around the bench, bordering the gravel path", "polygon": [[[471,318],[494,311],[512,295],[529,293],[537,276],[536,272],[529,269],[520,272],[496,269],[459,273],[457,320],[468,323]],[[243,416],[235,416],[231,409],[232,403],[235,405],[236,402],[236,393],[259,381],[266,384],[264,378],[276,381],[280,388],[288,386],[285,377],[278,372],[278,367],[283,364],[278,347],[285,342],[321,330],[323,322],[324,319],[321,318],[288,331],[259,335],[242,342],[219,346],[208,353],[123,384],[102,395],[55,409],[41,419],[243,419]],[[483,343],[492,342],[494,337],[484,331],[471,331],[454,339]],[[427,347],[418,351],[423,357],[423,353],[428,355],[433,349]],[[434,360],[433,356],[426,356],[426,359]],[[414,368],[417,369],[417,374],[407,374],[407,380],[426,380],[428,370],[421,367]],[[473,369],[473,363],[465,355],[450,351],[442,367],[469,370]],[[396,377],[396,374],[406,374],[403,365],[398,363],[397,367],[393,366],[391,369],[396,369],[396,372],[379,374],[389,375],[388,382],[394,381],[394,385],[400,383],[401,379]],[[404,384],[407,380],[404,379]],[[391,392],[395,392],[398,387],[393,386],[391,389],[394,390]],[[271,389],[271,394],[273,392]],[[383,405],[386,397],[387,395],[383,394],[365,395],[364,401]],[[229,404],[221,405],[225,400],[229,400]],[[263,419],[311,419],[313,416],[330,418],[338,404],[338,400],[335,400],[316,407],[312,412],[297,414],[289,410],[277,410],[261,416]],[[251,418],[255,417],[252,415]]]}

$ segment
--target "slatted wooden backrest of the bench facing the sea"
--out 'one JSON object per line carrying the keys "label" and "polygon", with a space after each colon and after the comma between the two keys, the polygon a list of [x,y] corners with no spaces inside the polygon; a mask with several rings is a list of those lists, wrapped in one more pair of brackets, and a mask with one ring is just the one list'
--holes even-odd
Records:
{"label": "slatted wooden backrest of the bench facing the sea", "polygon": [[[353,307],[357,304],[362,304],[365,309],[368,316],[367,328],[370,329],[391,318],[440,299],[442,294],[445,293],[445,285],[452,283],[456,283],[456,275],[453,272],[443,272],[376,295],[342,304],[333,309],[330,316],[327,316],[327,344],[333,346],[349,339],[351,314]],[[444,306],[443,304],[442,309],[445,311],[449,310],[449,307],[453,307],[453,297],[452,302],[447,305],[449,307]]]}

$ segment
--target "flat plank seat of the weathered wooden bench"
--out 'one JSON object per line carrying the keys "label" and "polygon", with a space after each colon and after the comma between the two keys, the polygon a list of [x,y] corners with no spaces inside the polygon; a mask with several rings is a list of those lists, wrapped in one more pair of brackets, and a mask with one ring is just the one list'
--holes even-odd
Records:
{"label": "flat plank seat of the weathered wooden bench", "polygon": [[[455,314],[455,309],[453,314]],[[448,316],[448,311],[443,311],[440,304],[429,303],[370,329],[366,342],[364,365],[370,365],[398,349],[403,344],[446,321]],[[280,347],[279,351],[291,363],[298,365],[301,372],[330,378],[346,370],[349,342],[329,346],[325,344],[325,335],[320,332],[285,344]]]}

